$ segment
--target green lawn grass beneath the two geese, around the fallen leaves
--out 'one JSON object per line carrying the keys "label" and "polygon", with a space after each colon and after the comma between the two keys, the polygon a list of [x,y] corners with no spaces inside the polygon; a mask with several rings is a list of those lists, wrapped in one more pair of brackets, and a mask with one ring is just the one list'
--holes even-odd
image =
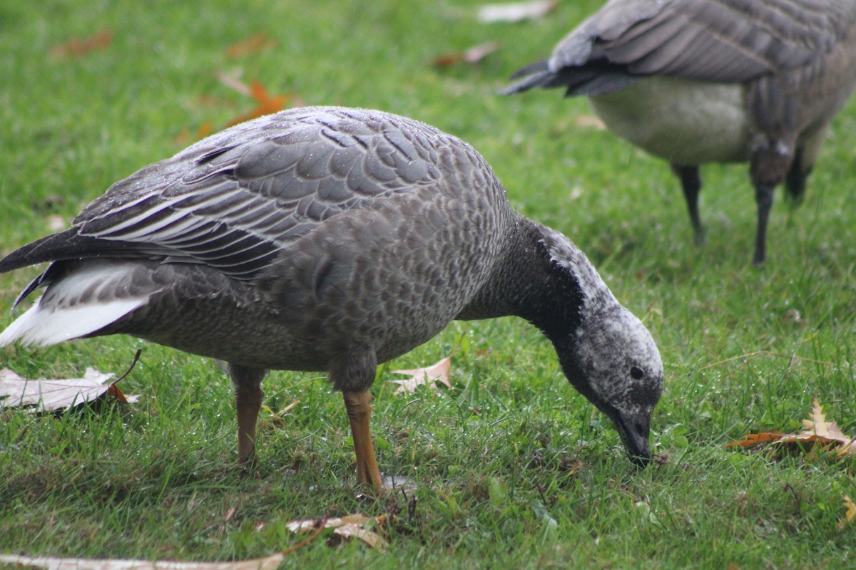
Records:
{"label": "green lawn grass beneath the two geese, around the fallen leaves", "polygon": [[[5,348],[0,364],[37,378],[87,366],[121,372],[142,346],[123,389],[143,397],[61,417],[0,412],[0,551],[232,560],[296,544],[288,520],[401,511],[387,549],[317,540],[285,565],[852,565],[853,528],[837,521],[842,496],[856,497],[853,461],[724,444],[798,428],[815,394],[844,432],[856,432],[856,104],[835,120],[805,203],[792,209],[777,196],[770,261],[757,270],[745,166],[704,168],[709,239],[698,248],[668,167],[580,124],[585,101],[496,97],[509,73],[548,53],[597,2],[490,26],[474,20],[476,4],[3,3],[0,250],[50,232],[55,216],[67,224],[207,122],[220,128],[251,109],[220,71],[239,69],[310,104],[425,120],[480,150],[514,205],[573,238],[651,328],[667,373],[652,441],[669,463],[634,470],[615,431],[562,378],[549,344],[520,320],[454,323],[381,368],[381,468],[416,486],[377,502],[357,495],[341,397],[318,375],[267,379],[259,473],[241,479],[230,385],[211,361],[132,338]],[[51,56],[98,30],[114,32],[106,50]],[[259,32],[275,45],[226,55]],[[431,66],[492,40],[502,50],[479,66]],[[3,325],[36,271],[0,277]],[[393,394],[390,370],[437,361],[459,339],[453,390]]]}

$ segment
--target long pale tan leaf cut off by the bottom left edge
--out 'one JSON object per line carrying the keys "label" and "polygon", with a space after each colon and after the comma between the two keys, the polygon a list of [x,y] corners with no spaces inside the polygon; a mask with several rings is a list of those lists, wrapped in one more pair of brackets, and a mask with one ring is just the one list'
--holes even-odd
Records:
{"label": "long pale tan leaf cut off by the bottom left edge", "polygon": [[286,553],[264,558],[229,562],[179,562],[98,558],[53,558],[0,554],[0,562],[9,565],[47,568],[48,570],[276,570]]}

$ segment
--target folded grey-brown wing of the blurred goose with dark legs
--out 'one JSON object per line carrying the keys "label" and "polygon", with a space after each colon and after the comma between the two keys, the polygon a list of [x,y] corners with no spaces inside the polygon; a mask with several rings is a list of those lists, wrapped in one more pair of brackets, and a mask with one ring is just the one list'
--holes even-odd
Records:
{"label": "folded grey-brown wing of the blurred goose with dark legs", "polygon": [[550,72],[615,66],[632,75],[740,82],[829,52],[852,0],[612,0],[562,39]]}

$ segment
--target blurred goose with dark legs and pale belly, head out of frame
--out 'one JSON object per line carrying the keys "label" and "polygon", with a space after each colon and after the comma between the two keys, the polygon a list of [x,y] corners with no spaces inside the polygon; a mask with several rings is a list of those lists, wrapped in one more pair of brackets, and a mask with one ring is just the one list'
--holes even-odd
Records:
{"label": "blurred goose with dark legs and pale belly, head out of frame", "polygon": [[773,190],[802,197],[856,85],[853,0],[610,0],[502,93],[565,87],[610,130],[670,162],[696,240],[698,165],[749,162],[764,262]]}

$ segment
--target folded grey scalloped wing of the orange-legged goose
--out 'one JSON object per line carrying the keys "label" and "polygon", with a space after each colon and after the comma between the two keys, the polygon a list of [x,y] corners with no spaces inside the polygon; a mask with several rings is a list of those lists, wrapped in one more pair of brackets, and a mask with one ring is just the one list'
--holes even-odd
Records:
{"label": "folded grey scalloped wing of the orange-legged goose", "polygon": [[113,185],[75,218],[59,250],[110,255],[99,244],[116,242],[122,255],[200,262],[253,279],[331,216],[433,184],[431,145],[442,133],[415,121],[407,130],[414,126],[419,138],[389,115],[329,108],[235,126]]}

